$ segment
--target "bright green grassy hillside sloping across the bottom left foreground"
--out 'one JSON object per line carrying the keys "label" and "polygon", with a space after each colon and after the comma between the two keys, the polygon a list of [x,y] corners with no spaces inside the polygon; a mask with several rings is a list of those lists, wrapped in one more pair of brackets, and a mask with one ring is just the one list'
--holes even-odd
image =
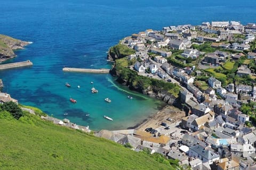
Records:
{"label": "bright green grassy hillside sloping across the bottom left foreground", "polygon": [[[0,169],[174,169],[166,159],[68,129],[39,116],[0,112]],[[163,163],[159,163],[163,162]]]}

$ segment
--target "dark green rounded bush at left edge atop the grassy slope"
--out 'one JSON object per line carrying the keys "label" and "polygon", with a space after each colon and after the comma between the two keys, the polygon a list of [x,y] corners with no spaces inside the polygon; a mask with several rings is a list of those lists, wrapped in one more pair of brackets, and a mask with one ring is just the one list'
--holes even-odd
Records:
{"label": "dark green rounded bush at left edge atop the grassy slope", "polygon": [[21,116],[23,116],[23,113],[21,111],[21,109],[19,108],[19,106],[15,103],[13,103],[12,101],[9,101],[7,103],[4,103],[1,108],[4,111],[10,112],[12,114],[12,116],[15,119],[19,119]]}

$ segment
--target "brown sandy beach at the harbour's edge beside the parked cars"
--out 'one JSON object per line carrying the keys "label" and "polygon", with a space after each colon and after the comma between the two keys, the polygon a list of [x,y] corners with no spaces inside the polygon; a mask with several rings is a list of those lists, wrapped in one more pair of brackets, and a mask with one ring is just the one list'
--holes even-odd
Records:
{"label": "brown sandy beach at the harbour's edge beside the parked cars", "polygon": [[[175,124],[177,122],[180,122],[181,118],[185,117],[185,115],[185,112],[180,111],[179,108],[167,105],[161,111],[157,112],[153,116],[150,116],[147,120],[133,128],[141,131],[144,131],[146,128],[156,129],[161,126],[162,122],[169,124]],[[172,119],[171,122],[166,120],[166,118],[169,117]]]}

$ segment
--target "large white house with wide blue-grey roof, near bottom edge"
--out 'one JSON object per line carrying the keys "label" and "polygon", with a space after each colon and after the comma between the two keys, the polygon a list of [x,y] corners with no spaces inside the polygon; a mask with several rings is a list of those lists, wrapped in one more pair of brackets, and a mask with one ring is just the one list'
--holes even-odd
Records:
{"label": "large white house with wide blue-grey roof, near bottom edge", "polygon": [[213,164],[213,162],[217,162],[220,159],[220,156],[218,154],[215,154],[214,152],[205,149],[201,145],[189,147],[188,156],[199,158],[202,160],[203,163],[209,163],[209,165]]}

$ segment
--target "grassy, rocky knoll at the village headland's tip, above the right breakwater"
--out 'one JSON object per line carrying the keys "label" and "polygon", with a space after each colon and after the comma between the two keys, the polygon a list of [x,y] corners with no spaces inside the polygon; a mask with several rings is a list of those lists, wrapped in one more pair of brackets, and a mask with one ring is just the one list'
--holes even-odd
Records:
{"label": "grassy, rocky knoll at the village headland's tip, above the right breakwater", "polygon": [[123,44],[117,44],[111,48],[109,48],[109,57],[113,60],[116,60],[117,58],[123,58],[125,56],[135,54],[135,50],[127,47],[126,45]]}

